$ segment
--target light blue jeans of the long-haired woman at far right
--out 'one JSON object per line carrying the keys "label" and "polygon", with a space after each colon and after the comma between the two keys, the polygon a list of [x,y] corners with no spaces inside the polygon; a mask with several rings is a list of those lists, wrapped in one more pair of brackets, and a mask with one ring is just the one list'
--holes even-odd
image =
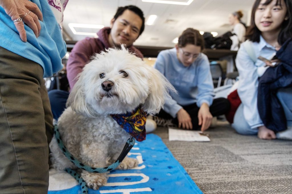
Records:
{"label": "light blue jeans of the long-haired woman at far right", "polygon": [[[277,92],[277,97],[282,104],[287,120],[287,127],[292,127],[292,88],[281,88]],[[239,134],[256,135],[258,128],[251,129],[243,115],[243,104],[237,108],[231,125]]]}

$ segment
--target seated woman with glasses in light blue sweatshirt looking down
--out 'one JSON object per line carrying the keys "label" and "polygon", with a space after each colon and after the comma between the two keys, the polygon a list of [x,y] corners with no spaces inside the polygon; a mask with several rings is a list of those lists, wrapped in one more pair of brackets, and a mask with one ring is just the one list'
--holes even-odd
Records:
{"label": "seated woman with glasses in light blue sweatshirt looking down", "polygon": [[[230,107],[225,98],[214,99],[214,86],[208,57],[201,53],[204,38],[188,28],[173,49],[161,51],[154,68],[178,91],[171,93],[158,117],[170,119],[184,129],[208,129],[213,116],[225,114]],[[200,127],[201,126],[201,127]]]}

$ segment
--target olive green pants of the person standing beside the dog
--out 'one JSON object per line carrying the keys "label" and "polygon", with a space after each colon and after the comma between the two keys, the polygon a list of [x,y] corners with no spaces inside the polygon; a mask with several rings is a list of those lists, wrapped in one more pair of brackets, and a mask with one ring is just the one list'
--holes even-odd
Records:
{"label": "olive green pants of the person standing beside the dog", "polygon": [[0,47],[0,193],[48,193],[53,116],[42,67]]}

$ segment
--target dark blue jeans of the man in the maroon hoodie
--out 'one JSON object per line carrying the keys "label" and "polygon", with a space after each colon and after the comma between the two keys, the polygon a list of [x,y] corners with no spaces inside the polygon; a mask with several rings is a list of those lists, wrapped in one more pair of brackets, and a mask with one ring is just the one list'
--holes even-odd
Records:
{"label": "dark blue jeans of the man in the maroon hoodie", "polygon": [[53,118],[58,120],[66,108],[69,92],[64,90],[51,90],[48,92]]}

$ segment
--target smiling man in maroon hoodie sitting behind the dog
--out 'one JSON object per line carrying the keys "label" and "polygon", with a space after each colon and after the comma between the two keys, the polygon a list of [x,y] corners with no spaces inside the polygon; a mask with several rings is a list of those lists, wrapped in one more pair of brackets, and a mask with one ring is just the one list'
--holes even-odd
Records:
{"label": "smiling man in maroon hoodie sitting behind the dog", "polygon": [[[98,31],[98,38],[85,38],[78,41],[69,56],[66,69],[69,86],[72,89],[77,82],[77,75],[90,61],[91,56],[110,47],[126,45],[136,56],[143,58],[142,53],[133,46],[133,43],[142,34],[145,27],[145,18],[142,10],[136,6],[125,6],[117,9],[110,27]],[[48,92],[54,119],[66,108],[69,92],[63,90],[51,90]]]}

